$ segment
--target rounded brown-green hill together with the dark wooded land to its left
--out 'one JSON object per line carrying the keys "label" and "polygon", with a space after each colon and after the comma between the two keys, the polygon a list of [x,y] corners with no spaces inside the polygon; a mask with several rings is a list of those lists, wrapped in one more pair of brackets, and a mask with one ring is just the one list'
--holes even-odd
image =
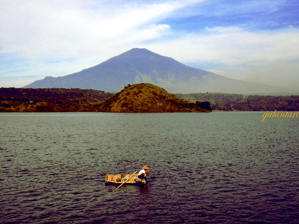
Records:
{"label": "rounded brown-green hill together with the dark wooded land to its left", "polygon": [[1,88],[0,112],[211,112],[152,84],[128,85],[114,96],[79,88]]}

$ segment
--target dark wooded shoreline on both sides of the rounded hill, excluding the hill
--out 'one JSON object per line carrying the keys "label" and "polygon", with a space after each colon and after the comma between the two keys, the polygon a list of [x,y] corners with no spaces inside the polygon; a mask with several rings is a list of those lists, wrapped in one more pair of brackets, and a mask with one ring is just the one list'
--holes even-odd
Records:
{"label": "dark wooded shoreline on both sides of the rounded hill, excluding the hill", "polygon": [[[0,88],[0,112],[78,112],[93,111],[114,94],[79,88]],[[261,96],[232,93],[174,94],[196,103],[210,102],[219,111],[299,111],[299,95]]]}

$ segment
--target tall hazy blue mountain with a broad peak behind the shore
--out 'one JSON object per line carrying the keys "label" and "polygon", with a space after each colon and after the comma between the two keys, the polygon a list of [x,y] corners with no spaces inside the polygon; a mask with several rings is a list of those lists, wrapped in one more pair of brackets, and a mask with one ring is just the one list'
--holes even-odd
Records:
{"label": "tall hazy blue mountain with a broad peak behind the shore", "polygon": [[273,93],[289,92],[184,65],[145,48],[133,48],[99,65],[66,76],[46,76],[23,88],[82,88],[118,92],[124,85],[152,83],[170,93]]}

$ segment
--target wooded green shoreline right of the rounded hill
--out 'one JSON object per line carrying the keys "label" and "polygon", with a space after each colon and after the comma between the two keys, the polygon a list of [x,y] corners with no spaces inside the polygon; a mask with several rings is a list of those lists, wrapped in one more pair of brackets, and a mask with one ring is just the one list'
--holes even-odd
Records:
{"label": "wooded green shoreline right of the rounded hill", "polygon": [[209,101],[212,110],[220,111],[299,111],[299,96],[260,96],[230,93],[175,94],[188,102]]}

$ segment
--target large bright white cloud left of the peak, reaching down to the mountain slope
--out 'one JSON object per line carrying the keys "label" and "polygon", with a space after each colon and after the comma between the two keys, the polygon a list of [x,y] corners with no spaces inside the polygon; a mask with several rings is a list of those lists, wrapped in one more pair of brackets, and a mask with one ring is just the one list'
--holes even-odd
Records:
{"label": "large bright white cloud left of the peak, reaching down to the mountain slope", "polygon": [[[1,1],[0,53],[28,62],[7,76],[62,76],[171,33],[159,24],[193,1]],[[74,58],[73,62],[65,61]],[[47,61],[61,61],[47,63]],[[16,65],[17,66],[17,65]],[[7,67],[7,66],[5,66]],[[9,69],[8,69],[9,70]],[[28,80],[21,85],[26,85]],[[2,80],[0,80],[2,83]],[[4,82],[4,81],[3,81]],[[20,87],[20,85],[18,85]]]}

